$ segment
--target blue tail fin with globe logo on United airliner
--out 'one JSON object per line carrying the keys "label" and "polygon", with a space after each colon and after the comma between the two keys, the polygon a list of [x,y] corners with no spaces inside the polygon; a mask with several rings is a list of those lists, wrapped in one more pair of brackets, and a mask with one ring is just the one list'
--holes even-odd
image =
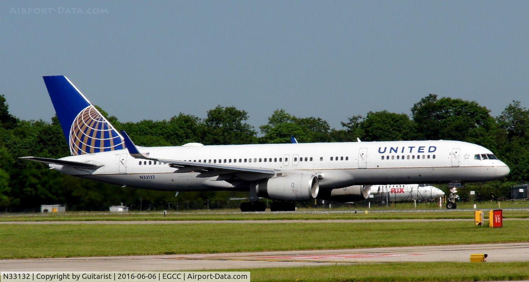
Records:
{"label": "blue tail fin with globe logo on United airliner", "polygon": [[43,77],[71,155],[125,149],[123,138],[65,76]]}

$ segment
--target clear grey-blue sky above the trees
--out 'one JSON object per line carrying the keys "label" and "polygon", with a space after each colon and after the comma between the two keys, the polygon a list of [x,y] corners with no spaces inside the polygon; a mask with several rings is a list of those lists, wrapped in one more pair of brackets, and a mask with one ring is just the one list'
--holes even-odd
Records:
{"label": "clear grey-blue sky above the trees", "polygon": [[58,74],[121,121],[222,105],[256,127],[278,108],[340,127],[428,93],[493,116],[529,107],[529,2],[3,1],[0,15],[0,94],[23,119],[54,115],[41,76]]}

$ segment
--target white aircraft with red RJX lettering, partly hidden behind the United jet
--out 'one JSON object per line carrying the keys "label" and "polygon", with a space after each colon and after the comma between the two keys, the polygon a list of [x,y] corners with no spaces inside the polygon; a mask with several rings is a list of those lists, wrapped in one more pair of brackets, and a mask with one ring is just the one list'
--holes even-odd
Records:
{"label": "white aircraft with red RJX lettering, partly hidden behind the United jet", "polygon": [[371,194],[385,194],[386,201],[427,201],[439,198],[444,192],[434,186],[421,184],[371,185]]}

